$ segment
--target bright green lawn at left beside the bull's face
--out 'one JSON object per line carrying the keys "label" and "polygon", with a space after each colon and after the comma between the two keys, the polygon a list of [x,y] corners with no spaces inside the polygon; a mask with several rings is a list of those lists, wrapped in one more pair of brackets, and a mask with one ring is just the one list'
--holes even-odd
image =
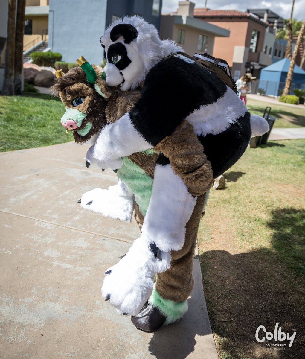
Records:
{"label": "bright green lawn at left beside the bull's face", "polygon": [[65,106],[45,94],[0,96],[0,151],[54,145],[73,140],[60,119]]}

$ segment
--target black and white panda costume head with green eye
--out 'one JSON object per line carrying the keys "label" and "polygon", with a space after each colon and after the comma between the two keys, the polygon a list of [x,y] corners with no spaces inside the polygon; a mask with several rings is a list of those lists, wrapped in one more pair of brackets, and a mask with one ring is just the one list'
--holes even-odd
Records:
{"label": "black and white panda costume head with green eye", "polygon": [[100,38],[107,64],[109,86],[135,89],[151,67],[170,53],[183,51],[172,40],[161,40],[154,25],[139,16],[124,17],[111,24]]}

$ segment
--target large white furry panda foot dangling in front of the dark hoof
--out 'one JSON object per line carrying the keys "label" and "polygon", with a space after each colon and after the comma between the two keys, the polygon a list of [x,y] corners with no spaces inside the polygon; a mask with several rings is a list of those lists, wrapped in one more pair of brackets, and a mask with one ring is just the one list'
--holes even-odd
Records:
{"label": "large white furry panda foot dangling in front of the dark hoof", "polygon": [[170,267],[170,253],[162,253],[163,260],[155,259],[145,236],[141,235],[118,264],[107,269],[111,274],[104,279],[102,296],[110,295],[110,303],[118,313],[136,315],[148,300],[154,286],[154,276]]}

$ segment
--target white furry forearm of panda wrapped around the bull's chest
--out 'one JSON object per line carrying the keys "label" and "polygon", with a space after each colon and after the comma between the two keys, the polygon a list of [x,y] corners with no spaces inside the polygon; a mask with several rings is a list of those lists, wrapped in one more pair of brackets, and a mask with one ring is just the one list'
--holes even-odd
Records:
{"label": "white furry forearm of panda wrapped around the bull's chest", "polygon": [[93,156],[98,161],[108,161],[129,156],[135,152],[152,148],[133,127],[129,113],[110,123],[99,134]]}

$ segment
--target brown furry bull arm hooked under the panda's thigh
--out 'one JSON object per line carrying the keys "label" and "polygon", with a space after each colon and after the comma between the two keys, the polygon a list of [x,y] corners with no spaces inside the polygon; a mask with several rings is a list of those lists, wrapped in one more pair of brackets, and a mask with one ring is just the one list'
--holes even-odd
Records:
{"label": "brown furry bull arm hooked under the panda's thigh", "polygon": [[184,120],[175,132],[156,145],[154,150],[163,152],[169,158],[174,173],[180,176],[193,196],[200,196],[212,187],[211,164],[188,121]]}

